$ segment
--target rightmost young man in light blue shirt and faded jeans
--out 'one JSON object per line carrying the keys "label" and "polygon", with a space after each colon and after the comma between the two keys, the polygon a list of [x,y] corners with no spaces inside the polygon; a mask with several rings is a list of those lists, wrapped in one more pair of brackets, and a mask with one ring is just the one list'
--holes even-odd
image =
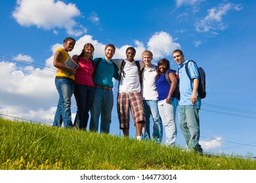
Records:
{"label": "rightmost young man in light blue shirt and faded jeans", "polygon": [[192,78],[192,82],[186,74],[184,54],[181,50],[173,51],[173,59],[179,65],[179,89],[181,99],[179,101],[179,127],[186,141],[186,145],[190,150],[202,154],[203,150],[199,144],[200,138],[200,122],[199,109],[201,99],[197,96],[199,74],[198,67],[190,61],[188,63],[188,74]]}

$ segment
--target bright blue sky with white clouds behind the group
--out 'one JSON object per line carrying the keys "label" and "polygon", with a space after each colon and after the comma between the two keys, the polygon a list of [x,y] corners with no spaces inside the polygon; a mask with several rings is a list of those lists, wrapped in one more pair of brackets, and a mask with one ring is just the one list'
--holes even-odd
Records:
{"label": "bright blue sky with white clouds behind the group", "polygon": [[[203,150],[256,155],[256,1],[0,3],[1,114],[53,123],[58,101],[53,55],[66,37],[77,40],[70,55],[79,54],[86,42],[95,45],[95,57],[104,56],[108,43],[116,45],[114,58],[125,58],[127,46],[135,46],[137,59],[148,49],[154,63],[167,58],[172,69],[178,65],[171,53],[181,48],[207,75],[200,111]],[[111,133],[119,135],[116,107],[112,113]],[[133,125],[130,133],[134,137]],[[184,146],[179,127],[177,144]]]}

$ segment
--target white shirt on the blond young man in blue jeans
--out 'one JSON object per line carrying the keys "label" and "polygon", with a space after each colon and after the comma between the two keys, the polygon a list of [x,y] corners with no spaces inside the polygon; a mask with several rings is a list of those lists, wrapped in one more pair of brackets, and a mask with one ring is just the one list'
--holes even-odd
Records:
{"label": "white shirt on the blond young man in blue jeans", "polygon": [[141,90],[143,100],[158,100],[158,90],[156,89],[157,76],[156,65],[152,65],[150,68],[144,68]]}

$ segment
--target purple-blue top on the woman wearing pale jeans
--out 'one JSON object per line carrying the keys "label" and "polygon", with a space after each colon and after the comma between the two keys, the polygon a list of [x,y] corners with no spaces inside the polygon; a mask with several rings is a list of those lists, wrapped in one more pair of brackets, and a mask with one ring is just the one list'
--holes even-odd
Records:
{"label": "purple-blue top on the woman wearing pale jeans", "polygon": [[[173,71],[168,71],[168,76]],[[158,101],[162,101],[168,97],[168,93],[170,90],[170,84],[165,78],[165,73],[160,76],[160,78],[156,81],[156,88],[158,90]]]}

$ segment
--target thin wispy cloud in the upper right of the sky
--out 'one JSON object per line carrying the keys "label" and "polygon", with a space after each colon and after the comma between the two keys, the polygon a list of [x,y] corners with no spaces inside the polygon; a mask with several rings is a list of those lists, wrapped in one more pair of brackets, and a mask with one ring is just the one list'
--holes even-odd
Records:
{"label": "thin wispy cloud in the upper right of the sky", "polygon": [[227,4],[219,4],[219,7],[213,7],[208,9],[207,16],[198,20],[195,23],[196,31],[198,32],[208,32],[214,30],[224,30],[226,29],[226,25],[222,22],[223,16],[228,12],[228,10],[241,10],[241,5],[234,5],[231,3]]}

